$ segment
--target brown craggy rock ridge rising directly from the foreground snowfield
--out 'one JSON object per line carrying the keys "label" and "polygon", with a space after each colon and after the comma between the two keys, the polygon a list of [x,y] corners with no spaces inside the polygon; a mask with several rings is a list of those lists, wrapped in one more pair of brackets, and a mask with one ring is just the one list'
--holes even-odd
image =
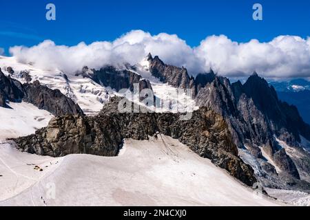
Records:
{"label": "brown craggy rock ridge rising directly from the foreground snowfield", "polygon": [[112,98],[94,117],[56,117],[36,134],[14,141],[24,151],[53,157],[69,153],[115,156],[123,138],[147,140],[149,135],[162,133],[187,144],[245,184],[256,182],[254,170],[238,157],[225,120],[214,111],[202,107],[191,120],[183,121],[178,113],[118,113],[115,110],[120,100]]}

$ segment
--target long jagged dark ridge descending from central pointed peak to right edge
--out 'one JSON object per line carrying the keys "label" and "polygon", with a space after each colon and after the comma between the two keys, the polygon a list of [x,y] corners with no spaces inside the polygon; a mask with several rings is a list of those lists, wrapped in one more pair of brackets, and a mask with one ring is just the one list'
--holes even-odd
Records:
{"label": "long jagged dark ridge descending from central pointed peak to right edge", "polygon": [[192,79],[186,69],[166,65],[157,56],[152,58],[149,54],[148,60],[153,76],[174,87],[195,89],[194,98],[198,106],[223,115],[238,147],[247,146],[256,158],[262,157],[262,149],[271,158],[274,154],[276,158],[281,156],[282,161],[278,159],[278,163],[282,165],[279,166],[287,174],[299,178],[294,162],[280,151],[274,136],[298,148],[299,135],[310,140],[310,126],[300,118],[296,107],[278,100],[275,89],[269,87],[265,79],[254,73],[245,85],[240,81],[231,84],[227,78],[216,76],[213,71],[198,74]]}

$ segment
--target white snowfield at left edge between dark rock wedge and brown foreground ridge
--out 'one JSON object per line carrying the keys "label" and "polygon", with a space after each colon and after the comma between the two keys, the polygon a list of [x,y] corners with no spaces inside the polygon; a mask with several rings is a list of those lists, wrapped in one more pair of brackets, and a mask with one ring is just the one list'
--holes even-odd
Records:
{"label": "white snowfield at left edge between dark rock wedge and brown foreground ridge", "polygon": [[0,107],[0,143],[6,138],[30,135],[47,126],[53,117],[48,111],[26,102],[10,102],[8,106],[10,109]]}

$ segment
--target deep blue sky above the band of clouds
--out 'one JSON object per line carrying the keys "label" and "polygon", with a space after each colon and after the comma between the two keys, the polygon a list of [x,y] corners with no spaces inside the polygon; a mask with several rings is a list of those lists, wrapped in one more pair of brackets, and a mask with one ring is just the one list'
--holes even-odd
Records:
{"label": "deep blue sky above the band of clouds", "polygon": [[[47,3],[56,5],[56,21],[45,19]],[[263,21],[252,19],[254,3],[262,4]],[[44,39],[60,45],[112,41],[138,29],[177,34],[191,46],[212,34],[238,42],[310,36],[310,1],[305,0],[2,0],[0,8],[0,47],[7,53],[10,46]]]}

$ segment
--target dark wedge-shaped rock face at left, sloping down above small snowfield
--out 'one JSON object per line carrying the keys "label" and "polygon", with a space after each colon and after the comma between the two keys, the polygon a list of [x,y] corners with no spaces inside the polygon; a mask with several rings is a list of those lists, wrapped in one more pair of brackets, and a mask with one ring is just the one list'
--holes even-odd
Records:
{"label": "dark wedge-shaped rock face at left, sloping down above small snowfield", "polygon": [[39,81],[23,85],[25,96],[23,100],[30,102],[39,109],[49,111],[53,115],[83,114],[78,104],[63,95],[58,89],[52,90],[40,85]]}

